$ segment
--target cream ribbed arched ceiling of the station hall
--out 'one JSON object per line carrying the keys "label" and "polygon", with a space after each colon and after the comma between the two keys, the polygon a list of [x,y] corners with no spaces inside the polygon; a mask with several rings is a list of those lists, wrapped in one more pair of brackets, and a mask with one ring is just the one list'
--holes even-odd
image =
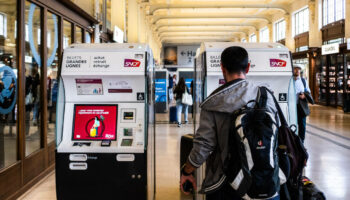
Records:
{"label": "cream ribbed arched ceiling of the station hall", "polygon": [[162,43],[232,41],[289,14],[294,0],[149,0],[142,7]]}

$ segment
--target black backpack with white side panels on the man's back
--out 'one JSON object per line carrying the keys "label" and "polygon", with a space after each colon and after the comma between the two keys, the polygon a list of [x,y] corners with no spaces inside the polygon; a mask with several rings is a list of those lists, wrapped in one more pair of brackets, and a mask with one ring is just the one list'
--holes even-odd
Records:
{"label": "black backpack with white side panels on the man's back", "polygon": [[[254,107],[249,107],[255,102]],[[266,199],[278,195],[279,168],[278,122],[267,108],[267,89],[259,89],[252,100],[233,115],[229,150],[224,162],[226,181],[242,198]]]}

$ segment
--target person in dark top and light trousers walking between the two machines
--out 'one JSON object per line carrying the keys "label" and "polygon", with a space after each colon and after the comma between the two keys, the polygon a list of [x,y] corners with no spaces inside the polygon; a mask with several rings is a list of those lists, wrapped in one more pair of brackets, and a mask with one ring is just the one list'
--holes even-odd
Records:
{"label": "person in dark top and light trousers walking between the two machines", "polygon": [[185,123],[188,123],[188,105],[182,103],[182,95],[185,93],[190,94],[190,91],[188,87],[185,84],[185,79],[180,78],[179,83],[175,87],[174,94],[175,94],[175,100],[176,100],[176,114],[177,114],[177,125],[178,127],[181,127],[181,113],[182,108],[184,108],[184,117],[185,117]]}

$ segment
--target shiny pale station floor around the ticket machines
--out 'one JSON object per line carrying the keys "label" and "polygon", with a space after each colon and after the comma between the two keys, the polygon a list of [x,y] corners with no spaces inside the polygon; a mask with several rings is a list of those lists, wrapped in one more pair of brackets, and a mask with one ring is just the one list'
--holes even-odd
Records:
{"label": "shiny pale station floor around the ticket machines", "polygon": [[[310,158],[305,173],[329,200],[350,198],[350,114],[312,106],[307,121],[306,147]],[[180,138],[192,124],[178,128],[157,124],[157,200],[191,199],[179,190]],[[20,200],[54,200],[55,172],[33,186]]]}

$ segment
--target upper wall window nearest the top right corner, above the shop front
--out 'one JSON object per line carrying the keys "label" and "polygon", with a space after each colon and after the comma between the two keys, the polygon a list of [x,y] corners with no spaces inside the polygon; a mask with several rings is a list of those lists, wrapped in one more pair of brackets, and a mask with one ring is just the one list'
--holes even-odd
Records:
{"label": "upper wall window nearest the top right corner, above the shop front", "polygon": [[323,26],[345,19],[345,0],[323,0]]}

